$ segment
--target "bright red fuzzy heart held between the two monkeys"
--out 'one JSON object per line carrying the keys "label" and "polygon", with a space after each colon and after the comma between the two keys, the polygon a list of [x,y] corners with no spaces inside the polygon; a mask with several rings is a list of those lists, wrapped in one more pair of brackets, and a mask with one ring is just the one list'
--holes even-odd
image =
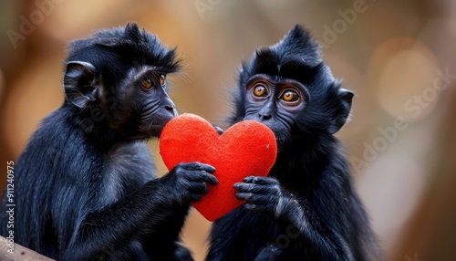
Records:
{"label": "bright red fuzzy heart held between the two monkeys", "polygon": [[169,170],[181,162],[202,162],[215,168],[219,183],[192,205],[214,221],[244,202],[235,197],[234,183],[247,176],[265,176],[277,156],[274,132],[263,123],[244,120],[220,135],[212,124],[189,113],[170,120],[161,132],[160,153]]}

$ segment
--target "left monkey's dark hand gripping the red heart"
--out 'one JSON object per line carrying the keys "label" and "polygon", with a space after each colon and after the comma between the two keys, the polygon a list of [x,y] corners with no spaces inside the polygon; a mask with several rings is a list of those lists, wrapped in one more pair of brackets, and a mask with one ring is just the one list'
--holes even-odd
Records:
{"label": "left monkey's dark hand gripping the red heart", "polygon": [[213,172],[215,168],[211,165],[200,162],[180,163],[162,179],[171,188],[170,195],[176,196],[178,202],[190,204],[199,201],[208,192],[207,183],[219,183],[212,175]]}

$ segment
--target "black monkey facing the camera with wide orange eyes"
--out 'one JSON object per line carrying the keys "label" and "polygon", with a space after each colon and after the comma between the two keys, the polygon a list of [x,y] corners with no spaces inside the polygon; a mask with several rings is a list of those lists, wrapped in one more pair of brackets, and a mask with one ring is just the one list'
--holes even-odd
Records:
{"label": "black monkey facing the camera with wide orange eyes", "polygon": [[299,25],[243,64],[231,123],[263,122],[279,151],[268,177],[234,184],[246,202],[213,223],[207,260],[377,260],[368,215],[333,136],[353,98],[340,86]]}

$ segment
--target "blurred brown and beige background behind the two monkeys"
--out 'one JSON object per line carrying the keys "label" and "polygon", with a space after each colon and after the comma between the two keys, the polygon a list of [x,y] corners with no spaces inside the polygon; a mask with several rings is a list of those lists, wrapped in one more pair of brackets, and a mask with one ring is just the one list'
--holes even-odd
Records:
{"label": "blurred brown and beige background behind the two monkeys", "polygon": [[[300,23],[327,64],[357,96],[346,144],[358,191],[387,260],[455,260],[456,2],[0,1],[0,172],[17,159],[39,121],[63,100],[67,42],[135,21],[178,47],[171,78],[178,110],[214,124],[232,112],[236,71],[256,47]],[[166,169],[158,142],[150,151]],[[182,232],[195,260],[211,223],[192,211]]]}

